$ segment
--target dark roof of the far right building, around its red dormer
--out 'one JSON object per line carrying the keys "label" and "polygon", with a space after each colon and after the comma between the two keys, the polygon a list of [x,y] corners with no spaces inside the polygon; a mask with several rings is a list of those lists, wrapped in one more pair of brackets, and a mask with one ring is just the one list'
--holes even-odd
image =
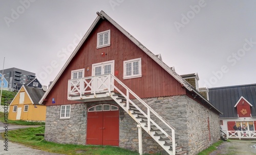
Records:
{"label": "dark roof of the far right building, around its red dormer", "polygon": [[256,117],[256,84],[209,88],[210,102],[223,112],[220,118],[238,117],[234,106],[242,96],[251,104],[251,116]]}

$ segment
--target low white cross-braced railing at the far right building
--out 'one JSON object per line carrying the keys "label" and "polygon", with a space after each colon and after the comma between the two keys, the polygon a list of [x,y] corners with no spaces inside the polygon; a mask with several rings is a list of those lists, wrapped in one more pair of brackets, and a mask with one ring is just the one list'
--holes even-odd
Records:
{"label": "low white cross-braced railing at the far right building", "polygon": [[226,131],[227,139],[231,138],[245,138],[256,139],[256,131]]}

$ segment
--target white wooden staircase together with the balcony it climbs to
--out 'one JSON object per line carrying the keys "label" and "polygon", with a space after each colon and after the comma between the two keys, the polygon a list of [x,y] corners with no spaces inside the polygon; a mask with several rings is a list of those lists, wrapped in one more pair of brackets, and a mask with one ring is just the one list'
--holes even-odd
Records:
{"label": "white wooden staircase together with the balcony it climbs to", "polygon": [[[118,84],[114,85],[115,82]],[[104,74],[69,80],[68,90],[68,99],[70,100],[111,97],[111,99],[114,99],[168,154],[186,154],[187,151],[183,151],[182,146],[177,146],[175,141],[175,128],[114,75]],[[90,94],[88,94],[88,92],[90,92]],[[80,99],[78,99],[77,96]],[[130,96],[134,99],[130,99]],[[136,104],[134,101],[136,101]],[[162,127],[159,124],[161,124]],[[165,128],[165,130],[163,128]],[[172,136],[167,134],[166,131],[171,132]]]}

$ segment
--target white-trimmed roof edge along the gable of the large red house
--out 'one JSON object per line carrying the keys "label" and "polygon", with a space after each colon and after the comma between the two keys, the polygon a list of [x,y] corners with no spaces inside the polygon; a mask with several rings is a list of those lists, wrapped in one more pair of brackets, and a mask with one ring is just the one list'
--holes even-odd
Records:
{"label": "white-trimmed roof edge along the gable of the large red house", "polygon": [[[170,75],[172,75],[178,82],[181,83],[182,86],[184,86],[187,90],[193,91],[198,96],[204,99],[204,97],[193,88],[190,84],[188,84],[179,74],[177,74],[172,68],[170,68],[168,65],[166,65],[162,60],[160,60],[156,55],[154,55],[150,50],[148,50],[144,45],[142,45],[137,39],[135,39],[130,33],[128,33],[126,30],[124,30],[118,23],[116,23],[111,17],[109,17],[107,14],[105,14],[103,11],[100,13],[97,12],[98,16],[94,20],[93,24],[89,28],[89,30],[86,32],[86,34],[83,36],[79,44],[74,49],[73,53],[71,54],[70,58],[67,60],[65,65],[62,67],[60,72],[55,77],[54,81],[52,82],[52,85],[50,85],[49,89],[46,91],[45,95],[41,98],[39,101],[39,104],[42,104],[48,93],[51,91],[51,89],[54,87],[55,83],[59,79],[60,75],[63,73],[63,71],[66,69],[68,64],[71,62],[71,60],[74,58],[82,44],[87,40],[88,36],[92,32],[92,30],[95,28],[96,24],[100,20],[100,18],[104,20],[108,20],[110,23],[112,23],[121,33],[123,33],[127,38],[129,38],[134,44],[136,44],[142,51],[144,51],[149,57],[151,57],[157,64],[159,64],[164,70],[166,70]],[[216,109],[214,106],[210,104],[210,102],[206,99],[204,101],[210,105],[210,107],[213,107],[215,110],[220,112],[218,109]],[[220,112],[221,113],[221,112]]]}

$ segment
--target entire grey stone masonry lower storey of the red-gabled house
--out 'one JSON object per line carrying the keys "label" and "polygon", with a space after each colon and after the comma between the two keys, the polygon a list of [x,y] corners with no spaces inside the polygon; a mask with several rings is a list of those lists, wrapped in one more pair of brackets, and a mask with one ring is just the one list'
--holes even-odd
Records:
{"label": "entire grey stone masonry lower storey of the red-gabled house", "polygon": [[[188,96],[154,97],[143,100],[175,128],[176,142],[183,146],[183,150],[188,150],[187,154],[197,154],[219,140],[219,114]],[[117,105],[113,100],[72,104],[70,119],[59,119],[60,106],[48,106],[45,139],[57,143],[85,145],[87,108],[97,104]],[[138,151],[136,121],[121,108],[119,113],[119,147]],[[167,133],[171,135],[171,132]],[[145,131],[142,130],[142,134],[143,152],[166,154]]]}

